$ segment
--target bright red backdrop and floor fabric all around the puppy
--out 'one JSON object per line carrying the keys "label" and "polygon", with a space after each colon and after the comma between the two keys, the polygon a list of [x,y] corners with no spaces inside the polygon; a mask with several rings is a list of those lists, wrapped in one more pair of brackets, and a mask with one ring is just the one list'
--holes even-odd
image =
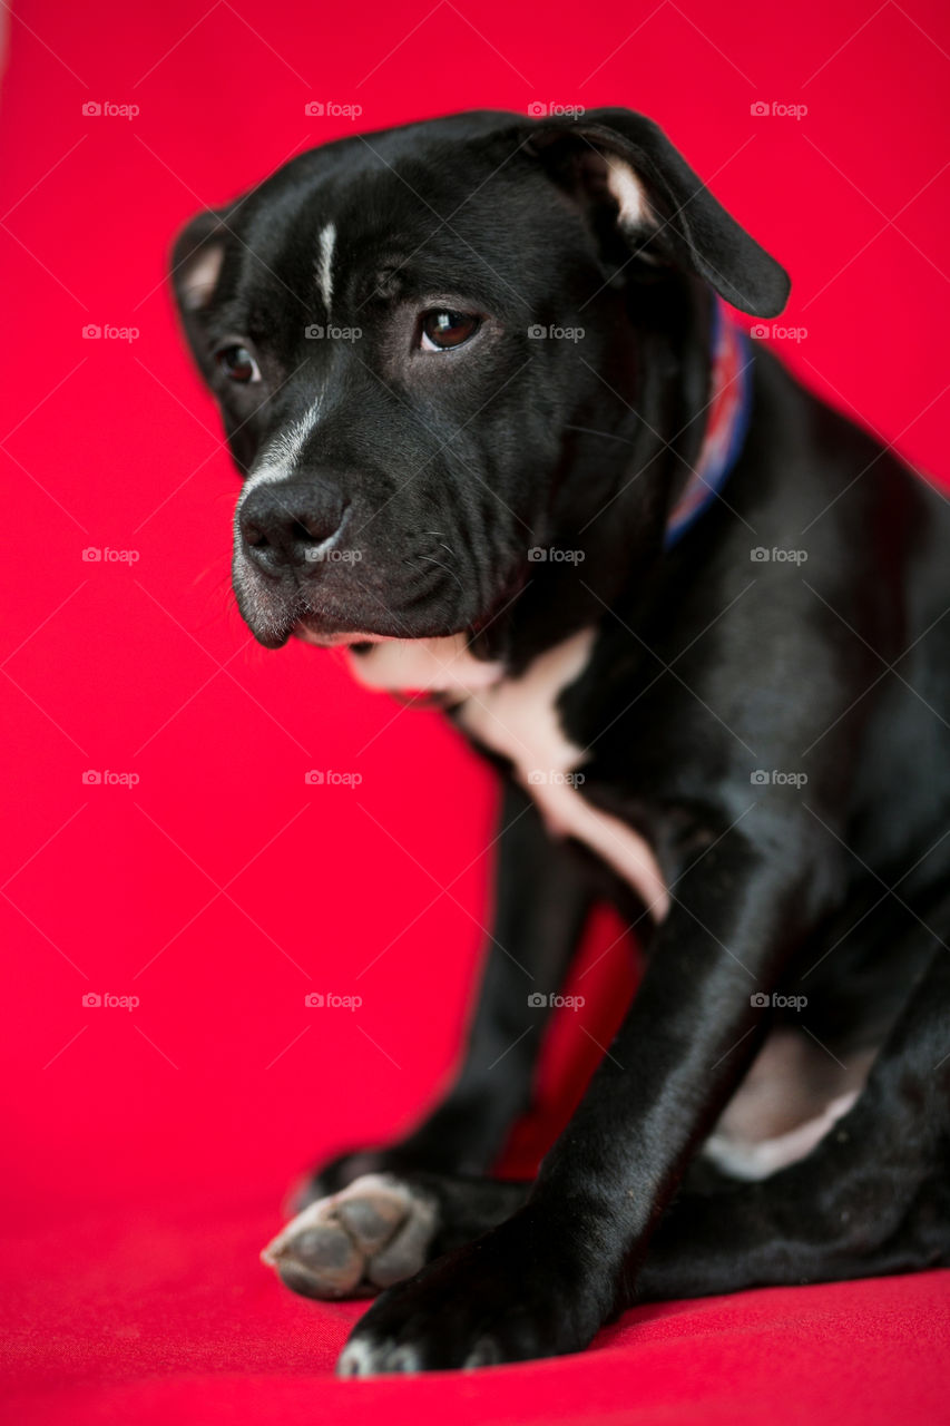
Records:
{"label": "bright red backdrop and floor fabric all around the puppy", "polygon": [[[946,478],[946,7],[17,0],[9,41],[0,917],[20,1419],[619,1420],[639,1403],[643,1420],[936,1420],[946,1275],[665,1306],[585,1358],[474,1379],[331,1380],[358,1308],[291,1298],[255,1253],[288,1181],[394,1135],[445,1079],[494,791],[434,713],[359,692],[335,656],[251,642],[228,592],[235,478],[165,265],[200,207],[352,131],[308,101],[362,106],[361,128],[629,104],[790,270],[787,325],[807,335],[776,338],[789,364]],[[138,337],[84,339],[87,324]],[[84,562],[90,546],[138,558]],[[84,786],[87,769],[140,781]],[[307,786],[308,769],[362,783]],[[592,1002],[629,984],[618,934],[603,917],[588,948]],[[364,1004],[307,1010],[308,990]],[[140,1005],[86,1008],[88,991]],[[562,1027],[552,1098],[578,1045]]]}

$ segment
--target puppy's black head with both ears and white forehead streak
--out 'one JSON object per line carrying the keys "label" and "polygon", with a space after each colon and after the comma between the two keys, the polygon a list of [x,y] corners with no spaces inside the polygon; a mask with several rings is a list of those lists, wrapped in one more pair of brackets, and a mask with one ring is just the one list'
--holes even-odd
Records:
{"label": "puppy's black head with both ears and white forehead streak", "polygon": [[194,218],[173,271],[245,476],[234,589],[268,647],[471,637],[562,575],[538,549],[658,540],[662,461],[612,503],[650,379],[678,376],[638,328],[685,329],[686,291],[757,317],[787,294],[626,110],[328,144]]}

